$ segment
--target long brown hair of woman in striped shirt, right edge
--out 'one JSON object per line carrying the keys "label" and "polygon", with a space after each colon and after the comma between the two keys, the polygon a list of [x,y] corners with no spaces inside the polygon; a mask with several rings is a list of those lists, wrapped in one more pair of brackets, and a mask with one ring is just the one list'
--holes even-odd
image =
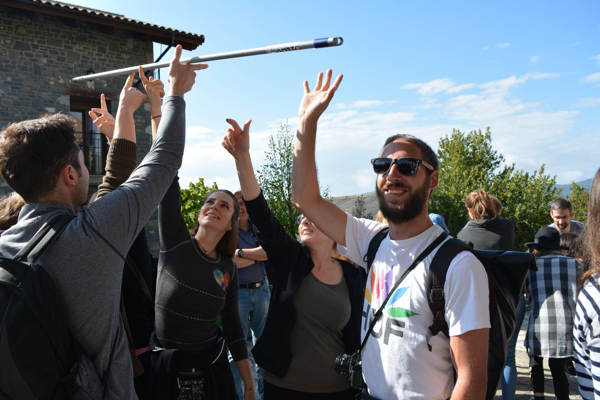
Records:
{"label": "long brown hair of woman in striped shirt, right edge", "polygon": [[600,272],[600,169],[592,181],[587,203],[586,230],[583,233],[584,260],[589,269],[581,276],[581,285],[587,278]]}

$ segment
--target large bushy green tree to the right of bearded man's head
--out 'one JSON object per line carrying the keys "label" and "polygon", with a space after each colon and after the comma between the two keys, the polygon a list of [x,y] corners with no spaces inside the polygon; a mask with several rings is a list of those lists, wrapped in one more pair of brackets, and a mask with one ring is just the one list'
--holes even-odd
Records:
{"label": "large bushy green tree to the right of bearded man's head", "polygon": [[430,210],[445,218],[452,236],[469,221],[467,194],[480,188],[502,201],[503,218],[515,224],[515,249],[526,251],[524,243],[548,224],[548,206],[560,194],[554,188],[556,179],[545,175],[543,165],[532,174],[506,165],[504,156],[492,148],[489,127],[485,133],[453,130],[440,139],[437,157],[440,182],[431,195]]}

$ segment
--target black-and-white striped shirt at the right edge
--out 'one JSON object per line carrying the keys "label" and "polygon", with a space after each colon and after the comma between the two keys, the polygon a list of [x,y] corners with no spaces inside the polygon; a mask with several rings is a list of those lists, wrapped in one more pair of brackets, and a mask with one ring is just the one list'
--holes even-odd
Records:
{"label": "black-and-white striped shirt at the right edge", "polygon": [[573,351],[579,392],[583,399],[600,398],[600,287],[590,277],[577,297]]}

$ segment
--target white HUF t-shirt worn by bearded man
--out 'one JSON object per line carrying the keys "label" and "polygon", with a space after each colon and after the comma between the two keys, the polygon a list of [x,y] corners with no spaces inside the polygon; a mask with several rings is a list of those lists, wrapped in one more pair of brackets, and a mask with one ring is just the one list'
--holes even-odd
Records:
{"label": "white HUF t-shirt worn by bearded man", "polygon": [[[348,215],[346,248],[338,245],[340,254],[366,268],[363,257],[368,245],[385,226]],[[442,228],[434,224],[410,239],[391,240],[388,235],[383,240],[367,277],[361,341],[367,333],[370,318],[397,279],[440,234]],[[429,264],[438,248],[419,263],[392,294],[362,350],[362,374],[371,396],[385,400],[445,400],[452,394],[454,375],[450,339],[442,332],[433,336],[430,340],[432,351],[428,350],[425,340],[433,323],[425,284]],[[451,336],[490,327],[487,273],[475,255],[463,251],[452,260],[444,293]],[[365,318],[367,315],[369,320]]]}

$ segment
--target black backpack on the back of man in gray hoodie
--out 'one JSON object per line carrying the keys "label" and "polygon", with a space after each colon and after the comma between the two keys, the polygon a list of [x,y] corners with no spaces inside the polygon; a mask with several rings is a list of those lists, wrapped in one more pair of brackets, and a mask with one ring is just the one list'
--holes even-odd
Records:
{"label": "black backpack on the back of man in gray hoodie", "polygon": [[100,380],[67,327],[52,278],[35,263],[73,218],[53,217],[14,258],[0,257],[2,399],[96,400],[106,392],[116,336]]}

